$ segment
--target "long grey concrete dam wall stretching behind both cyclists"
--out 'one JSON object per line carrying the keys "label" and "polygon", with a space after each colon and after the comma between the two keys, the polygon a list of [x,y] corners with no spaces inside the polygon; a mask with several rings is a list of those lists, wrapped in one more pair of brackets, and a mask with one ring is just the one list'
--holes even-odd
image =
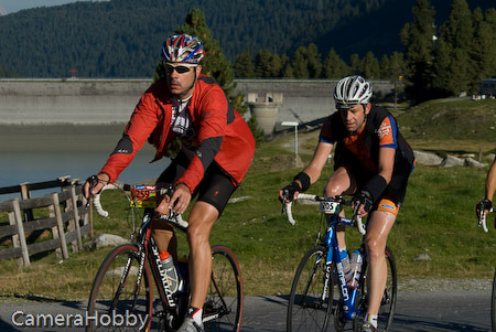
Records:
{"label": "long grey concrete dam wall stretching behind both cyclists", "polygon": [[[151,81],[0,81],[0,125],[127,122]],[[334,111],[336,81],[237,81],[236,92],[282,94],[278,121],[301,124]],[[375,83],[375,92],[392,90]]]}

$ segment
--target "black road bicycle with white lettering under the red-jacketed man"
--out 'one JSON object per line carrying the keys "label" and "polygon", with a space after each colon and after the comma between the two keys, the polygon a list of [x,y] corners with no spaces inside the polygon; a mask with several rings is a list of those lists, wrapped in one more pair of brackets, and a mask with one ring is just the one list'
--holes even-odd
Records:
{"label": "black road bicycle with white lettering under the red-jacketed man", "polygon": [[[176,265],[181,278],[174,285],[177,288],[174,292],[150,229],[153,207],[157,205],[155,195],[172,195],[173,186],[157,189],[154,185],[112,185],[120,189],[130,202],[132,243],[118,246],[103,261],[89,294],[87,312],[91,320],[86,331],[150,331],[152,326],[159,331],[175,331],[183,322],[188,307],[187,261]],[[106,186],[108,188],[109,185]],[[130,196],[126,191],[131,192]],[[101,192],[94,196],[95,210],[98,214],[108,216],[101,207],[100,194]],[[141,208],[144,212],[136,234],[136,218]],[[169,216],[161,215],[160,218],[180,231],[187,228],[187,223],[181,215],[173,214],[172,210]],[[238,332],[244,307],[239,264],[233,251],[223,245],[212,246],[212,257],[211,283],[203,307],[205,331]],[[152,293],[153,282],[159,294],[157,300]]]}

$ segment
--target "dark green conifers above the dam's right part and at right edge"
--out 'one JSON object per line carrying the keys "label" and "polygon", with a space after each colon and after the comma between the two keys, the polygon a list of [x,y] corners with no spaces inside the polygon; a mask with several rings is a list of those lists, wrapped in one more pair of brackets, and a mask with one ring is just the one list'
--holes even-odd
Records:
{"label": "dark green conifers above the dam's right part and at right edge", "polygon": [[369,79],[405,79],[416,101],[476,93],[482,79],[496,77],[496,9],[468,9],[453,0],[448,19],[435,26],[435,9],[417,0],[413,21],[401,30],[405,53],[377,58],[371,51],[348,61],[331,49],[322,60],[315,44],[300,46],[292,56],[249,50],[236,57],[236,76],[242,78],[341,78],[360,74]]}

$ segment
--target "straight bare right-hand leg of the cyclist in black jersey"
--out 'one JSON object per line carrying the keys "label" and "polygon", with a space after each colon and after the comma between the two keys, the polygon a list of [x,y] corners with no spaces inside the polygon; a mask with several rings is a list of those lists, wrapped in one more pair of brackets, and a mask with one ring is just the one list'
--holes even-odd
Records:
{"label": "straight bare right-hand leg of the cyclist in black jersey", "polygon": [[389,232],[395,224],[396,215],[386,211],[374,211],[367,226],[365,247],[367,249],[368,269],[368,312],[377,314],[386,288],[387,261],[384,255]]}

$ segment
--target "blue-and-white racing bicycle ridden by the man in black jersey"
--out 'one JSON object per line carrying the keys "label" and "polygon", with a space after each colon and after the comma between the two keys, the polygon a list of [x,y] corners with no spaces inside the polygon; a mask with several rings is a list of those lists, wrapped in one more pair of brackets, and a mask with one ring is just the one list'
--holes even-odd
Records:
{"label": "blue-and-white racing bicycle ridden by the man in black jersey", "polygon": [[[353,322],[353,331],[360,331],[362,319],[367,312],[367,253],[364,242],[359,247],[363,258],[362,272],[355,289],[347,285],[343,263],[337,246],[337,224],[357,227],[365,238],[366,226],[362,219],[341,217],[338,213],[352,202],[344,197],[322,197],[311,194],[299,194],[295,200],[319,202],[323,215],[327,215],[325,233],[319,231],[315,245],[301,259],[291,287],[288,304],[287,331],[327,331],[331,321],[335,331],[343,331],[348,321]],[[292,225],[291,204],[283,206],[288,222]],[[397,269],[392,251],[386,247],[385,256],[388,265],[386,289],[379,310],[378,328],[388,331],[392,319],[397,299]],[[334,285],[337,283],[338,299],[334,299]],[[334,310],[333,310],[334,309]]]}

